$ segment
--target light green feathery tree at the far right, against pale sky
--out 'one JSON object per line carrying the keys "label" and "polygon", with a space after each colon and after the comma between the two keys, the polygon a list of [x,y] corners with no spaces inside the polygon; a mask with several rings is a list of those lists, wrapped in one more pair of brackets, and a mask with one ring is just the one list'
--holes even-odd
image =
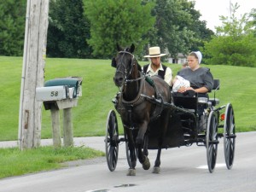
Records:
{"label": "light green feathery tree at the far right, against pale sky", "polygon": [[217,36],[205,44],[207,64],[256,67],[256,38],[247,14],[236,18],[239,5],[231,4],[230,17],[220,16],[223,25],[216,27]]}

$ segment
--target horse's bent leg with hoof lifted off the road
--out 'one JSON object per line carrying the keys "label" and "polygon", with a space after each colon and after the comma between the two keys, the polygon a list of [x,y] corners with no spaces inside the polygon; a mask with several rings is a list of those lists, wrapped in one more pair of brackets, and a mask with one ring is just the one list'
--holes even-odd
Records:
{"label": "horse's bent leg with hoof lifted off the road", "polygon": [[148,128],[148,121],[144,121],[143,124],[139,128],[137,138],[136,138],[136,144],[137,144],[137,150],[138,150],[138,160],[143,165],[144,170],[148,170],[150,168],[150,162],[148,160],[148,157],[147,157],[147,155],[143,154],[144,136],[147,131],[147,128]]}

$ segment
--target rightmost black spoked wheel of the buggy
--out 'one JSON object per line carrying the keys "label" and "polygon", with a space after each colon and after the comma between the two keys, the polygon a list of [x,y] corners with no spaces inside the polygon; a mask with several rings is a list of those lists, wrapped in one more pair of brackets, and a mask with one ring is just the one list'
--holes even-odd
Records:
{"label": "rightmost black spoked wheel of the buggy", "polygon": [[236,144],[236,129],[235,129],[235,116],[232,105],[229,103],[226,106],[225,119],[224,119],[224,156],[228,169],[233,166],[235,156]]}

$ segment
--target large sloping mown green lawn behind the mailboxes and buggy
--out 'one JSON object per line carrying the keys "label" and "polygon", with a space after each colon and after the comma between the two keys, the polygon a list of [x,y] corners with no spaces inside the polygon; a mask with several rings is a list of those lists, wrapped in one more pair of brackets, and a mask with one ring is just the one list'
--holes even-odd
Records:
{"label": "large sloping mown green lawn behind the mailboxes and buggy", "polygon": [[[67,76],[83,78],[83,96],[78,107],[73,108],[74,137],[102,136],[105,134],[108,111],[118,88],[113,84],[115,69],[110,60],[82,60],[48,58],[45,81]],[[147,62],[140,62],[141,65]],[[174,74],[180,65],[167,64]],[[16,140],[18,135],[21,57],[0,56],[0,141]],[[235,111],[236,131],[256,131],[256,68],[232,66],[207,66],[214,79],[220,79],[217,97],[220,105],[231,102]],[[212,95],[212,94],[211,94]],[[211,96],[212,97],[212,96]],[[50,112],[43,108],[42,138],[51,138]],[[61,111],[62,115],[62,111]],[[61,119],[62,120],[62,119]],[[122,131],[119,120],[119,130]]]}

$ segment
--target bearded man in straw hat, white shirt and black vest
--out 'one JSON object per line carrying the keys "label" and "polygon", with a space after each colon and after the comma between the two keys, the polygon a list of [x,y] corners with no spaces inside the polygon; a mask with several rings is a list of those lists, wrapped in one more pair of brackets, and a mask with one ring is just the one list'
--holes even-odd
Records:
{"label": "bearded man in straw hat, white shirt and black vest", "polygon": [[143,66],[143,72],[148,73],[150,76],[159,75],[171,86],[172,69],[170,67],[166,67],[160,62],[160,57],[166,54],[160,53],[160,47],[150,47],[148,49],[148,54],[149,55],[145,55],[144,57],[148,57],[150,59],[150,63]]}

